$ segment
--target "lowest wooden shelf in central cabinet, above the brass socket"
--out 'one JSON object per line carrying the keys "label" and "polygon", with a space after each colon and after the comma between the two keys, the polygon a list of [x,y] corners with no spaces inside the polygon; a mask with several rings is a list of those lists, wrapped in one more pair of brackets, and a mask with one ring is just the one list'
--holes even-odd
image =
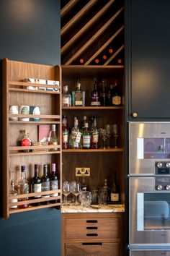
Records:
{"label": "lowest wooden shelf in central cabinet, above the brass socket", "polygon": [[97,152],[102,152],[102,153],[107,153],[107,152],[123,152],[122,148],[106,148],[106,149],[72,149],[72,148],[68,148],[66,150],[62,150],[63,153],[86,153],[86,152],[90,152],[90,153],[97,153]]}

